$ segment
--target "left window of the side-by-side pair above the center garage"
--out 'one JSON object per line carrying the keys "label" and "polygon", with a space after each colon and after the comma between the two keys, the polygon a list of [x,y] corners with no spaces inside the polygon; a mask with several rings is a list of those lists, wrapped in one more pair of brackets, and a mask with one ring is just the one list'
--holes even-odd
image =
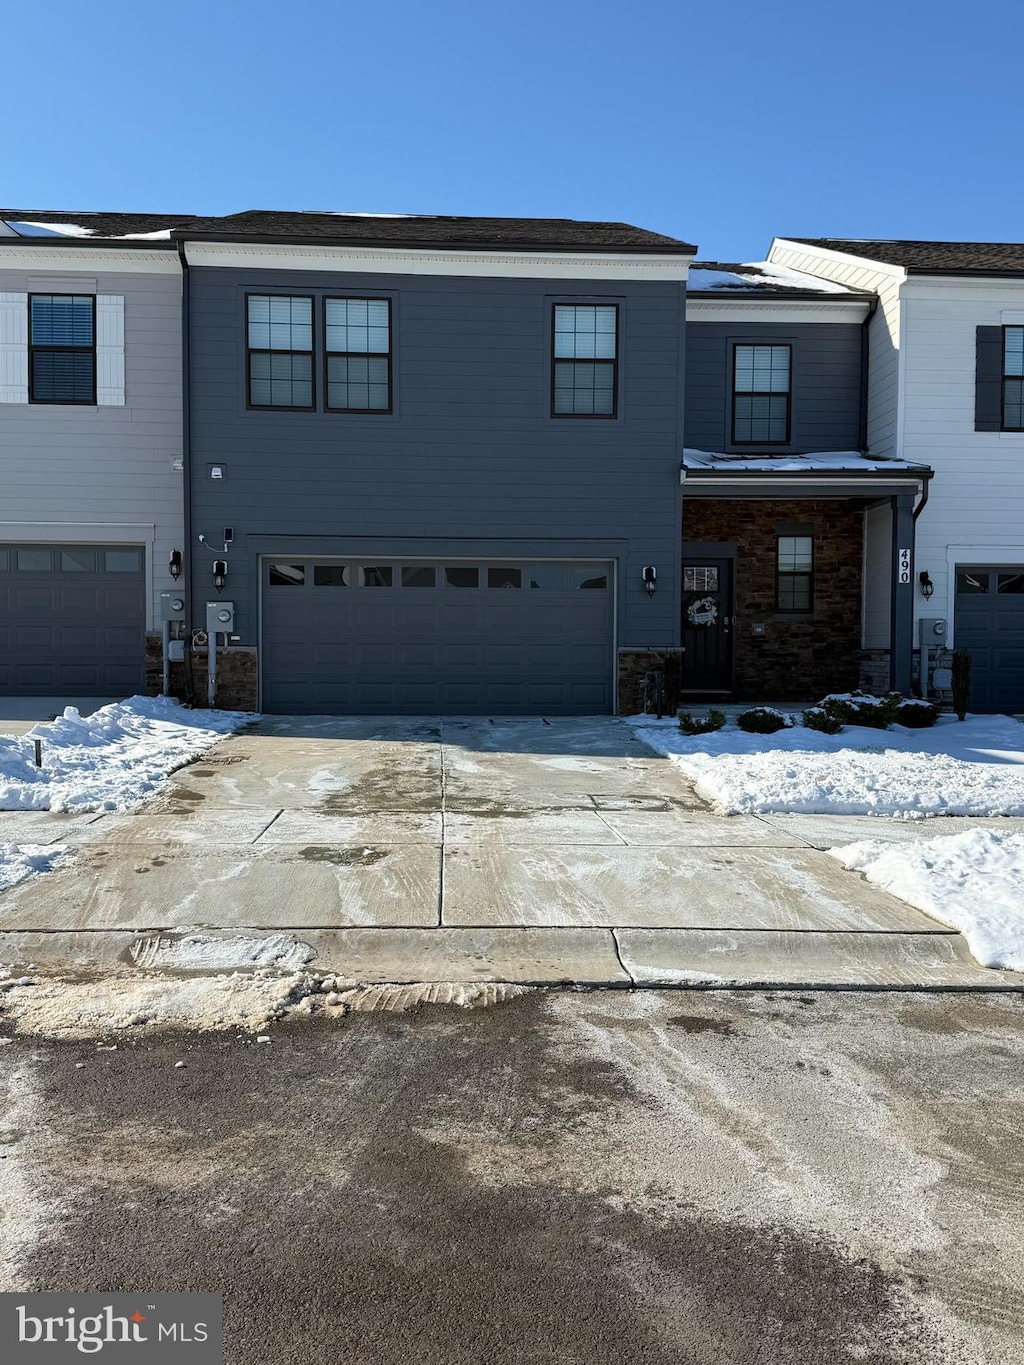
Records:
{"label": "left window of the side-by-side pair above the center garage", "polygon": [[313,408],[313,299],[250,293],[248,405]]}

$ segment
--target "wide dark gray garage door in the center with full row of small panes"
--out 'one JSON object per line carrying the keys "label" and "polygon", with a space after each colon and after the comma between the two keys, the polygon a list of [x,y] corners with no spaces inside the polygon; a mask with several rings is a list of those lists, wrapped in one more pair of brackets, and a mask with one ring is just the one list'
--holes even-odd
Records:
{"label": "wide dark gray garage door in the center with full row of small panes", "polygon": [[266,711],[612,710],[612,564],[277,557],[262,577]]}

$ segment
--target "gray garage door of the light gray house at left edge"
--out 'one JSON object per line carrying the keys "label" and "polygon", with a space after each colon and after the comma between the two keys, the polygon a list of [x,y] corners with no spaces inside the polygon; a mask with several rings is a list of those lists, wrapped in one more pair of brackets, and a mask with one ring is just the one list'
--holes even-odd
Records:
{"label": "gray garage door of the light gray house at left edge", "polygon": [[0,696],[141,692],[145,640],[141,546],[0,546]]}

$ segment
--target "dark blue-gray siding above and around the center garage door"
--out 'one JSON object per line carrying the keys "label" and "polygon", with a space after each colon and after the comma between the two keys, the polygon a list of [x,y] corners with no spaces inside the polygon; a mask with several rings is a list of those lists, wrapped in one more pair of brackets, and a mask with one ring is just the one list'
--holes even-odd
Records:
{"label": "dark blue-gray siding above and around the center garage door", "polygon": [[[250,292],[317,300],[318,411],[247,410]],[[392,299],[392,415],[324,411],[321,300],[347,295]],[[616,419],[550,415],[561,299],[620,306]],[[194,268],[194,524],[212,543],[235,530],[224,597],[243,643],[257,642],[261,553],[431,557],[498,541],[509,556],[618,560],[618,646],[677,643],[683,308],[681,284]],[[202,551],[194,594],[197,609],[212,597]]]}

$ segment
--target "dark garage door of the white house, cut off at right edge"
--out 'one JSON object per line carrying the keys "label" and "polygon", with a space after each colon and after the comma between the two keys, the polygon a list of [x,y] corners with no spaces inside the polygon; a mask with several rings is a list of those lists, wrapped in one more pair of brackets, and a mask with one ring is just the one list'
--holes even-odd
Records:
{"label": "dark garage door of the white house, cut off at right edge", "polygon": [[971,654],[971,710],[1024,711],[1024,565],[957,565],[956,644]]}

